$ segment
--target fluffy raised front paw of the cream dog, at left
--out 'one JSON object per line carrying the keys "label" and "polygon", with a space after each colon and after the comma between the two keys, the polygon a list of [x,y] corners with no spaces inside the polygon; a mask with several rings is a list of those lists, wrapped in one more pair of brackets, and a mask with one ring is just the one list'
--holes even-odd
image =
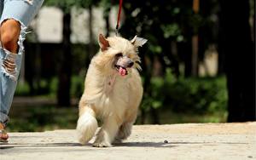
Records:
{"label": "fluffy raised front paw of the cream dog, at left", "polygon": [[96,121],[95,112],[90,107],[87,107],[79,116],[77,124],[79,143],[82,145],[86,144],[93,137],[97,128],[98,123]]}

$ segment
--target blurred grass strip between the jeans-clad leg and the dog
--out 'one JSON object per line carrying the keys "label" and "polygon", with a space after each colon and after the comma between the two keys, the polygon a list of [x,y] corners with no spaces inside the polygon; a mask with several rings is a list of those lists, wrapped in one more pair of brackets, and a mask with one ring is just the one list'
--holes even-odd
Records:
{"label": "blurred grass strip between the jeans-clad leg and the dog", "polygon": [[74,129],[78,108],[57,106],[13,106],[9,131],[33,132],[53,129]]}

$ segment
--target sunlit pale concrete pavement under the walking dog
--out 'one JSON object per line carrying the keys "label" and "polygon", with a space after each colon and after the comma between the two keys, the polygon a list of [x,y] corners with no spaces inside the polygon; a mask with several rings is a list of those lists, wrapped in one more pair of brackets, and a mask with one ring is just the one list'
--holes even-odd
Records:
{"label": "sunlit pale concrete pavement under the walking dog", "polygon": [[256,159],[256,122],[138,125],[110,148],[79,145],[75,130],[9,135],[0,160]]}

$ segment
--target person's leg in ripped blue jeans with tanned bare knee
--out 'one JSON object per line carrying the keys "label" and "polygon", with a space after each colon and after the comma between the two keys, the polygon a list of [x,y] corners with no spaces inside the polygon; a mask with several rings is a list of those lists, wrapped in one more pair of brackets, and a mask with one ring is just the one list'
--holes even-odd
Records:
{"label": "person's leg in ripped blue jeans with tanned bare knee", "polygon": [[0,123],[6,125],[20,72],[26,27],[38,13],[44,0],[1,2],[3,11],[0,20]]}

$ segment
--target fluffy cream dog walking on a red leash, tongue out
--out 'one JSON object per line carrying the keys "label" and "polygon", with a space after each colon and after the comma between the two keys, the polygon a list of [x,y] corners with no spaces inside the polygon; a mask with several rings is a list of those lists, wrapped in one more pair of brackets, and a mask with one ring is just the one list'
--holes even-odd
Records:
{"label": "fluffy cream dog walking on a red leash, tongue out", "polygon": [[129,41],[99,34],[100,50],[90,61],[84,93],[79,100],[76,129],[80,144],[92,139],[98,128],[98,118],[102,120],[102,128],[97,132],[93,146],[112,146],[131,134],[143,97],[138,47],[146,42],[137,36]]}

